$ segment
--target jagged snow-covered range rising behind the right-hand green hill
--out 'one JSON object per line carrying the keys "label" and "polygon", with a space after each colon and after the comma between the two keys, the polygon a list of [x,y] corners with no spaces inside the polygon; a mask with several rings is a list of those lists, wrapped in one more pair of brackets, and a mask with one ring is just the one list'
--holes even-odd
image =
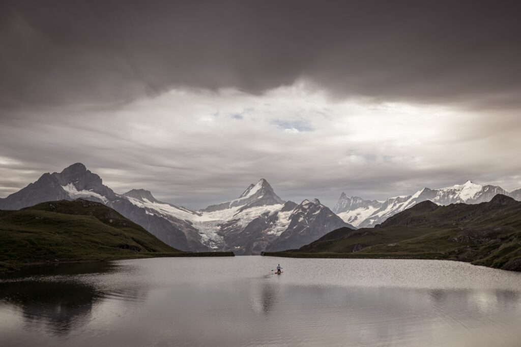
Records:
{"label": "jagged snow-covered range rising behind the right-hand green hill", "polygon": [[342,192],[333,212],[337,213],[345,222],[359,228],[365,228],[374,227],[390,216],[411,208],[421,201],[430,200],[439,205],[458,202],[475,204],[490,201],[497,194],[521,200],[521,189],[509,193],[499,186],[482,186],[467,181],[462,185],[446,188],[430,189],[426,187],[413,195],[393,197],[384,201],[364,200],[358,197],[350,198]]}

